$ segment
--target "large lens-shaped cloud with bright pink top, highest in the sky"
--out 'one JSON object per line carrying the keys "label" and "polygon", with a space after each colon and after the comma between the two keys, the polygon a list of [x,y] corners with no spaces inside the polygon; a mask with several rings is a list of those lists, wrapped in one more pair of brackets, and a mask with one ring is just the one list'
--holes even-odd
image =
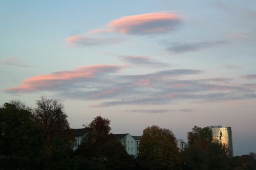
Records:
{"label": "large lens-shaped cloud with bright pink top, highest in the sky", "polygon": [[108,23],[106,29],[92,30],[90,33],[157,34],[174,31],[181,23],[182,17],[170,12],[145,13],[114,19]]}

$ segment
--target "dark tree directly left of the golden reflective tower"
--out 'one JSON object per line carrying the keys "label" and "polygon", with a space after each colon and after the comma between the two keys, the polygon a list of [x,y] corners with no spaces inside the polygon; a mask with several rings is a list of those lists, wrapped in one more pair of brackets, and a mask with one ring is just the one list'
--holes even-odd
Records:
{"label": "dark tree directly left of the golden reflective tower", "polygon": [[226,169],[228,157],[221,143],[212,141],[210,128],[195,126],[187,133],[188,148],[182,152],[183,169]]}

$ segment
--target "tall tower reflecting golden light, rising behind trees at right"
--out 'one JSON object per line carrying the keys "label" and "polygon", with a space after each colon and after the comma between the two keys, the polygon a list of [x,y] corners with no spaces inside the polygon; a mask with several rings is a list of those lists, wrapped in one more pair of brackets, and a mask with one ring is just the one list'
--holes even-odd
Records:
{"label": "tall tower reflecting golden light, rising behind trees at right", "polygon": [[217,140],[228,149],[228,154],[233,156],[233,142],[231,127],[209,126],[212,131],[212,138]]}

